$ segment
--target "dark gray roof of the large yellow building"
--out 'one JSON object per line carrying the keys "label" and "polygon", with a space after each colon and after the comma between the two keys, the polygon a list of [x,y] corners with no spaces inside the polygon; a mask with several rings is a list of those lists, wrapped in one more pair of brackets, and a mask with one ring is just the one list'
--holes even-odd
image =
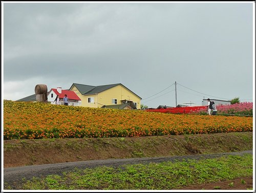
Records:
{"label": "dark gray roof of the large yellow building", "polygon": [[[100,92],[103,92],[105,90],[111,89],[113,87],[116,87],[117,85],[122,85],[124,88],[126,88],[123,84],[121,83],[117,83],[117,84],[107,84],[107,85],[99,85],[99,86],[91,86],[91,85],[85,85],[85,84],[78,84],[78,83],[73,83],[70,87],[70,89],[75,86],[78,91],[82,94],[82,95],[90,95],[90,94],[97,94]],[[69,90],[70,90],[69,89]],[[126,88],[127,90],[129,90],[130,92],[132,92],[130,89]],[[135,94],[134,92],[132,92],[133,94]],[[136,94],[135,94],[136,95]],[[137,97],[139,97],[138,95],[136,95]],[[142,99],[141,97],[139,97],[140,99]]]}

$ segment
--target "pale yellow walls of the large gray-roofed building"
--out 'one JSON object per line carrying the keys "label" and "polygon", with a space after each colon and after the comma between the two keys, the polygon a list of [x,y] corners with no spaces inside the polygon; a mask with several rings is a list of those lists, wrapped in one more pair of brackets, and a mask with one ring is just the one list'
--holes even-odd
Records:
{"label": "pale yellow walls of the large gray-roofed building", "polygon": [[[121,100],[137,102],[137,109],[140,109],[140,98],[124,88],[122,85],[117,85],[116,87],[93,95],[81,95],[75,86],[71,89],[71,91],[74,91],[77,96],[79,96],[81,99],[81,106],[101,108],[103,105],[113,105],[112,99],[114,98],[117,99],[117,104],[122,104]],[[94,97],[94,103],[88,103],[89,97]]]}

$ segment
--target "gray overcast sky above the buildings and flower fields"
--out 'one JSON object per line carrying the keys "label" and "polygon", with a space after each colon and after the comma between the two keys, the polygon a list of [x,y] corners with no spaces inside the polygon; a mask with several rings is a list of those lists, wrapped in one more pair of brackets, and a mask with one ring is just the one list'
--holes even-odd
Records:
{"label": "gray overcast sky above the buildings and flower fields", "polygon": [[178,104],[253,101],[254,2],[2,5],[3,99],[122,83],[157,108],[177,81]]}

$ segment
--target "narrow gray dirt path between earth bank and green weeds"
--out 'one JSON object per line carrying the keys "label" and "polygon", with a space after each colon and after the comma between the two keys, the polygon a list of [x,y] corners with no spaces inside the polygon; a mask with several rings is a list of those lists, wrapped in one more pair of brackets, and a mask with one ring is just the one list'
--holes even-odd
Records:
{"label": "narrow gray dirt path between earth bank and green weeds", "polygon": [[216,158],[226,155],[243,155],[252,154],[252,150],[243,152],[230,152],[220,154],[207,154],[207,155],[188,155],[188,156],[169,156],[169,157],[157,157],[157,158],[130,158],[130,159],[106,159],[106,160],[91,160],[91,161],[79,161],[68,163],[56,163],[56,164],[44,164],[44,165],[31,165],[23,167],[9,167],[4,168],[4,184],[8,183],[15,189],[17,185],[22,184],[22,179],[30,180],[33,177],[43,177],[47,175],[61,175],[64,171],[72,171],[75,168],[93,168],[97,166],[112,166],[118,167],[123,164],[146,164],[146,163],[159,163],[165,161],[175,161],[183,159],[207,159]]}

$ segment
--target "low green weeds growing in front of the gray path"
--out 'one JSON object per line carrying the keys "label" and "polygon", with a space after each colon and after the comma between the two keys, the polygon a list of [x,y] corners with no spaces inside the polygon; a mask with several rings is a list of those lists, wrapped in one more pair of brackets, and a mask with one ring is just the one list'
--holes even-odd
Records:
{"label": "low green weeds growing in front of the gray path", "polygon": [[[252,155],[76,169],[62,175],[23,179],[18,189],[168,190],[252,176]],[[246,183],[245,181],[243,183]],[[8,187],[8,184],[5,184]],[[229,183],[232,186],[232,183]],[[9,187],[10,188],[10,187]],[[215,189],[221,187],[216,186]],[[252,187],[251,187],[252,188]]]}

